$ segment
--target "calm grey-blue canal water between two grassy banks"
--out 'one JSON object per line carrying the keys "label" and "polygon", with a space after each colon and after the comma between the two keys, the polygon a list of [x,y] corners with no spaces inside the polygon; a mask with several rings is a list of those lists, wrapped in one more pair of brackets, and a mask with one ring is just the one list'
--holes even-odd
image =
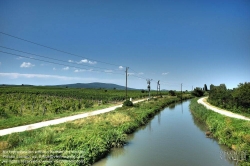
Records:
{"label": "calm grey-blue canal water between two grassy banks", "polygon": [[174,104],[146,126],[129,135],[128,144],[115,148],[94,166],[233,166],[230,151],[205,135],[206,127],[193,118],[190,101]]}

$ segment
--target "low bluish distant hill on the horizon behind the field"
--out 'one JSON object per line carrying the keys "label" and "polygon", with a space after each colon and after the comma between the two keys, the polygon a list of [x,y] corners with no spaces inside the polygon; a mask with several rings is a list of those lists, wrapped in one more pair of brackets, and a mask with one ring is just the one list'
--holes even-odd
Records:
{"label": "low bluish distant hill on the horizon behind the field", "polygon": [[[68,87],[68,88],[93,88],[93,89],[117,89],[117,90],[124,90],[126,87],[117,85],[117,84],[111,84],[111,83],[100,83],[100,82],[93,82],[93,83],[76,83],[76,84],[64,84],[64,85],[55,85],[58,87]],[[128,88],[128,90],[136,90],[133,88]]]}

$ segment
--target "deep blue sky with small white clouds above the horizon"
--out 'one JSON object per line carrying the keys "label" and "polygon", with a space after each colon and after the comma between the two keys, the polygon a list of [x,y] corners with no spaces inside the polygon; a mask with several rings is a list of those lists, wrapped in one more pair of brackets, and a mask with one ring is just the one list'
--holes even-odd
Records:
{"label": "deep blue sky with small white clouds above the horizon", "polygon": [[[0,84],[250,82],[248,0],[0,0]],[[182,86],[181,86],[182,84]]]}

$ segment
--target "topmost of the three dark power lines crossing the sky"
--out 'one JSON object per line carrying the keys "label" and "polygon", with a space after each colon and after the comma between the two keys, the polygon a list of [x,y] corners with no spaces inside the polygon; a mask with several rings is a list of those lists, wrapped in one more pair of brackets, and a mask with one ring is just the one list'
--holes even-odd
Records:
{"label": "topmost of the three dark power lines crossing the sky", "polygon": [[35,44],[35,45],[44,47],[44,48],[48,48],[48,49],[51,49],[51,50],[55,50],[55,51],[58,51],[58,52],[62,52],[62,53],[64,53],[64,54],[69,54],[69,55],[72,55],[72,56],[76,56],[76,57],[81,57],[81,58],[89,59],[89,60],[92,60],[92,61],[96,61],[96,62],[100,62],[100,63],[107,64],[107,65],[121,66],[121,65],[117,65],[117,64],[107,63],[107,62],[95,60],[95,59],[92,59],[92,58],[88,58],[88,57],[83,57],[83,56],[80,56],[80,55],[72,54],[72,53],[69,53],[69,52],[66,52],[66,51],[62,51],[62,50],[59,50],[59,49],[56,49],[56,48],[53,48],[53,47],[49,47],[49,46],[46,46],[46,45],[43,45],[43,44],[39,44],[39,43],[36,43],[36,42],[33,42],[33,41],[29,41],[29,40],[20,38],[20,37],[16,37],[16,36],[13,36],[13,35],[4,33],[4,32],[0,32],[0,33],[3,34],[3,35],[9,36],[9,37],[18,39],[18,40],[22,40],[22,41],[25,41],[25,42],[28,42],[28,43],[32,43],[32,44]]}

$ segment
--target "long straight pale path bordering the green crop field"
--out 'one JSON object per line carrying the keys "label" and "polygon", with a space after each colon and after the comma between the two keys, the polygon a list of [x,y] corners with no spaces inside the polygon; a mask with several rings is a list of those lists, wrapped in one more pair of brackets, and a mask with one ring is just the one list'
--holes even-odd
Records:
{"label": "long straight pale path bordering the green crop field", "polygon": [[[146,100],[146,99],[137,100],[137,101],[134,101],[133,103],[135,104],[138,102],[142,102],[144,100]],[[83,114],[78,114],[78,115],[68,116],[68,117],[64,117],[64,118],[49,120],[49,121],[45,121],[45,122],[38,122],[38,123],[34,123],[34,124],[3,129],[3,130],[0,130],[0,136],[8,135],[11,133],[16,133],[16,132],[23,132],[26,130],[38,129],[38,128],[42,128],[42,127],[46,127],[46,126],[50,126],[50,125],[57,125],[60,123],[65,123],[65,122],[69,122],[69,121],[73,121],[73,120],[77,120],[77,119],[82,119],[82,118],[86,118],[89,116],[103,114],[106,112],[113,111],[119,107],[122,107],[122,104],[117,105],[117,106],[113,106],[113,107],[109,107],[109,108],[105,108],[105,109],[101,109],[101,110],[96,110],[96,111],[87,112],[87,113],[83,113]]]}

